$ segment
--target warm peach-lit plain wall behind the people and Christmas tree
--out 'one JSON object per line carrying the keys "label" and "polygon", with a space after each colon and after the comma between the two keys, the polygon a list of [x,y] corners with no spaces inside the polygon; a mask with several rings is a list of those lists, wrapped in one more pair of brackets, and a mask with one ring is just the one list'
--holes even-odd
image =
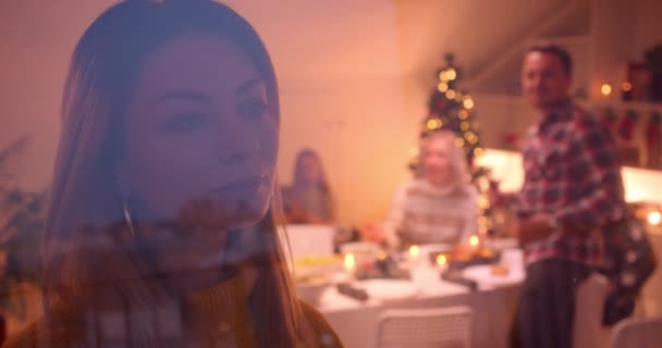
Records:
{"label": "warm peach-lit plain wall behind the people and Christmas tree", "polygon": [[[277,66],[282,182],[290,181],[298,149],[317,148],[341,222],[363,224],[384,216],[396,185],[408,175],[408,151],[442,54],[455,52],[470,76],[569,1],[575,0],[228,2],[257,27]],[[0,2],[0,147],[33,136],[16,163],[21,186],[48,185],[71,51],[85,27],[114,2]],[[633,2],[641,20],[635,28],[638,47],[660,39],[659,16],[648,11],[659,11],[658,2]],[[529,119],[522,119],[519,107],[498,109],[488,99],[476,99],[486,137],[492,128],[526,126]],[[517,122],[490,123],[494,112]]]}

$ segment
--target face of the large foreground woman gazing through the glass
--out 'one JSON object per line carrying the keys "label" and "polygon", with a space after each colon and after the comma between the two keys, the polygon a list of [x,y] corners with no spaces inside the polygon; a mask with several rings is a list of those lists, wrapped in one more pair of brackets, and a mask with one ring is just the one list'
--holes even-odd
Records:
{"label": "face of the large foreground woman gazing through the glass", "polygon": [[[151,219],[216,232],[257,223],[271,199],[278,125],[253,62],[224,37],[192,35],[142,66],[118,164],[131,197]],[[223,233],[193,229],[175,251],[204,257],[224,243]]]}

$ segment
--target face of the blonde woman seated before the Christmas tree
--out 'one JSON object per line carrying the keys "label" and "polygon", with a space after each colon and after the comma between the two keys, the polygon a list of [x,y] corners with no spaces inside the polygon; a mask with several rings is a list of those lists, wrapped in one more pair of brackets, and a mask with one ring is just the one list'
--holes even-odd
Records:
{"label": "face of the blonde woman seated before the Christmas tree", "polygon": [[445,185],[452,179],[452,163],[449,142],[432,137],[425,144],[422,151],[422,174],[433,185]]}

